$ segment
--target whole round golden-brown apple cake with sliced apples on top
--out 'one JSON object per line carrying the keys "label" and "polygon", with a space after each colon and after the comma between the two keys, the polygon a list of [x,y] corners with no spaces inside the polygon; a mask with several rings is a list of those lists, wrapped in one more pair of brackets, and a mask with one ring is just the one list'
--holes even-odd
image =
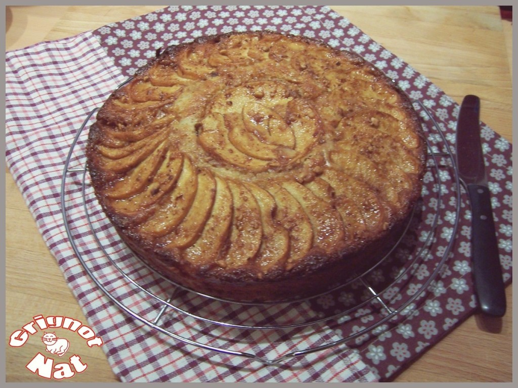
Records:
{"label": "whole round golden-brown apple cake with sliced apples on top", "polygon": [[98,201],[138,257],[247,302],[315,295],[379,260],[425,152],[380,70],[270,32],[167,48],[108,98],[87,146]]}

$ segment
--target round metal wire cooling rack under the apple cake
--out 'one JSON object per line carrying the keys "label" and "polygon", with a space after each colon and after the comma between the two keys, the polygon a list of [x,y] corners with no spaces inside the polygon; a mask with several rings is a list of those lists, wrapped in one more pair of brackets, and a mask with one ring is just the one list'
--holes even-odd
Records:
{"label": "round metal wire cooling rack under the apple cake", "polygon": [[[421,199],[391,252],[337,289],[306,300],[247,304],[186,290],[155,272],[120,240],[90,186],[85,144],[97,109],[78,130],[63,170],[62,212],[70,244],[125,314],[194,347],[271,365],[376,335],[380,325],[397,324],[426,299],[457,232],[461,190],[454,156],[433,115],[419,101],[414,109],[428,148]],[[439,231],[446,218],[450,234]],[[329,300],[341,301],[340,307],[322,308]]]}

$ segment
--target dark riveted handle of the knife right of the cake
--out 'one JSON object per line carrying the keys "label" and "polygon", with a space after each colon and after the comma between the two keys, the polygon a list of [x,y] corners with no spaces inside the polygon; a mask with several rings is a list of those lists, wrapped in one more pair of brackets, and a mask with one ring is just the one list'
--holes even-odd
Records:
{"label": "dark riveted handle of the knife right of the cake", "polygon": [[486,186],[467,185],[471,202],[471,253],[473,279],[483,314],[502,317],[506,294],[496,240],[490,191]]}

